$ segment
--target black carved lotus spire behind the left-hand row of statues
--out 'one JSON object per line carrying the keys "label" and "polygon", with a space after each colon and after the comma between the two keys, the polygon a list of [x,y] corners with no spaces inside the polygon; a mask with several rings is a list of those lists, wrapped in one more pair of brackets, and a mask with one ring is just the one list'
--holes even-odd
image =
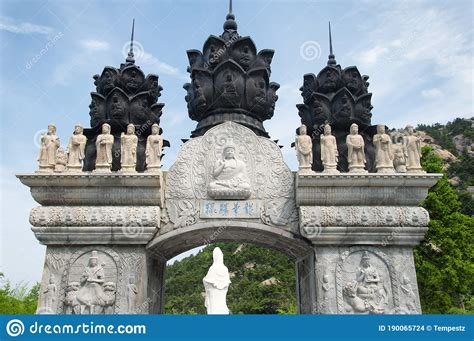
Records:
{"label": "black carved lotus spire behind the left-hand row of statues", "polygon": [[[91,92],[90,129],[84,129],[88,141],[84,170],[95,167],[95,140],[101,126],[108,123],[112,128],[116,143],[113,147],[112,170],[120,169],[120,134],[126,131],[128,124],[135,125],[138,136],[137,170],[145,169],[146,138],[151,126],[160,123],[163,103],[157,103],[163,88],[158,84],[158,75],[145,75],[135,64],[133,41],[135,19],[132,22],[130,50],[126,62],[119,68],[106,66],[100,75],[94,76],[96,91]],[[168,142],[166,142],[168,144]]]}

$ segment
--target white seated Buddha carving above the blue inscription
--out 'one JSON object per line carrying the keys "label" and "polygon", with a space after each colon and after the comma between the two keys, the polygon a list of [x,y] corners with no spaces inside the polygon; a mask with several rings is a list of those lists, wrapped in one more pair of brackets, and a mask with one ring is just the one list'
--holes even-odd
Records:
{"label": "white seated Buddha carving above the blue inscription", "polygon": [[235,157],[235,147],[228,144],[216,161],[207,193],[214,199],[248,199],[252,194],[245,163]]}

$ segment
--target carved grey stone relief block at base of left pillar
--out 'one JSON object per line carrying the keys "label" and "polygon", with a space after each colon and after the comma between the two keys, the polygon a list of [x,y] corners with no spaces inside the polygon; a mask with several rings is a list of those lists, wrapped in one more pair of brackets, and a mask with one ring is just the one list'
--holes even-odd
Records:
{"label": "carved grey stone relief block at base of left pillar", "polygon": [[140,247],[48,247],[36,313],[147,313],[145,265]]}

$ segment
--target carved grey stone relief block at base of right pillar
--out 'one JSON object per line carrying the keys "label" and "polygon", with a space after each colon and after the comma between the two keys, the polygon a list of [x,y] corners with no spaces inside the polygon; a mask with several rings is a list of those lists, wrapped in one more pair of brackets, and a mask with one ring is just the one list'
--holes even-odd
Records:
{"label": "carved grey stone relief block at base of right pillar", "polygon": [[317,313],[421,313],[413,254],[407,247],[319,247]]}

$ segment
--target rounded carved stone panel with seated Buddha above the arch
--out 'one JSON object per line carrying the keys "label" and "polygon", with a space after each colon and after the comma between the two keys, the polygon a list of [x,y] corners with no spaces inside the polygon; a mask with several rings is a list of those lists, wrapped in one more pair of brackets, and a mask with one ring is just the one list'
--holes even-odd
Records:
{"label": "rounded carved stone panel with seated Buddha above the arch", "polygon": [[297,231],[294,176],[280,148],[226,122],[186,142],[166,178],[161,233],[211,219]]}

